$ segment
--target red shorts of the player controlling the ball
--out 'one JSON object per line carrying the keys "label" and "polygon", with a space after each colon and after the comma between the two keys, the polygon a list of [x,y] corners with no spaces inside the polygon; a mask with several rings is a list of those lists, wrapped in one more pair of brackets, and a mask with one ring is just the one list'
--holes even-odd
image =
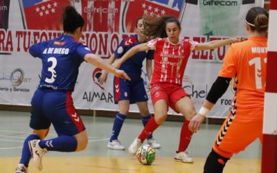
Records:
{"label": "red shorts of the player controlling the ball", "polygon": [[180,99],[188,96],[188,93],[178,84],[170,84],[170,83],[155,83],[151,85],[151,99],[152,104],[158,100],[166,100],[166,103],[179,113],[177,109],[175,109],[175,103]]}

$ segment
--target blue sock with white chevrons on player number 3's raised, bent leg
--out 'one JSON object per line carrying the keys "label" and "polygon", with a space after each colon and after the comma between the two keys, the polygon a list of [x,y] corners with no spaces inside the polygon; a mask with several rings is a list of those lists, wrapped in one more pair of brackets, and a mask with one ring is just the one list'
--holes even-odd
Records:
{"label": "blue sock with white chevrons on player number 3's raised, bent leg", "polygon": [[77,145],[78,142],[73,136],[59,136],[39,142],[39,147],[56,152],[75,152]]}

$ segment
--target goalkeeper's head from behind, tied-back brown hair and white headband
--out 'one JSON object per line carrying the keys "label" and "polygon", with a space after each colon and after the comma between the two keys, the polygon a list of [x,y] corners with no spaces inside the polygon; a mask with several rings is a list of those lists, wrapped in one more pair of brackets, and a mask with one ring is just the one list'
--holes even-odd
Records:
{"label": "goalkeeper's head from behind, tied-back brown hair and white headband", "polygon": [[249,24],[252,31],[258,33],[267,32],[269,13],[261,7],[253,7],[247,12],[246,22]]}

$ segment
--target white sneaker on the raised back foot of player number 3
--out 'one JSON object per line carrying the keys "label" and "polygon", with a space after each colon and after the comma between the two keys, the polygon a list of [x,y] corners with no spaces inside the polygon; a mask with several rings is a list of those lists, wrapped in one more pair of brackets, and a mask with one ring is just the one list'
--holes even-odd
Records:
{"label": "white sneaker on the raised back foot of player number 3", "polygon": [[29,149],[30,153],[32,154],[33,160],[35,162],[35,166],[38,170],[42,170],[42,156],[47,152],[47,149],[42,149],[39,147],[40,140],[30,140]]}

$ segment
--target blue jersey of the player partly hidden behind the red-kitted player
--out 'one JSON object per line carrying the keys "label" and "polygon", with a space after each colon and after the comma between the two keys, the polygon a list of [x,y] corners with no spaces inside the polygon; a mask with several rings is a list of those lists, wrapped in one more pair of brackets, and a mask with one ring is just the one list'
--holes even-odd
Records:
{"label": "blue jersey of the player partly hidden behind the red-kitted player", "polygon": [[[116,55],[116,57],[122,57],[130,48],[138,44],[141,44],[141,42],[138,41],[137,35],[132,35],[127,39],[123,39],[116,48],[114,55]],[[120,70],[125,71],[131,79],[141,78],[141,68],[143,67],[143,60],[145,59],[145,57],[149,60],[153,60],[153,54],[153,51],[138,52],[130,57],[128,60],[123,62],[123,64],[120,66]]]}

